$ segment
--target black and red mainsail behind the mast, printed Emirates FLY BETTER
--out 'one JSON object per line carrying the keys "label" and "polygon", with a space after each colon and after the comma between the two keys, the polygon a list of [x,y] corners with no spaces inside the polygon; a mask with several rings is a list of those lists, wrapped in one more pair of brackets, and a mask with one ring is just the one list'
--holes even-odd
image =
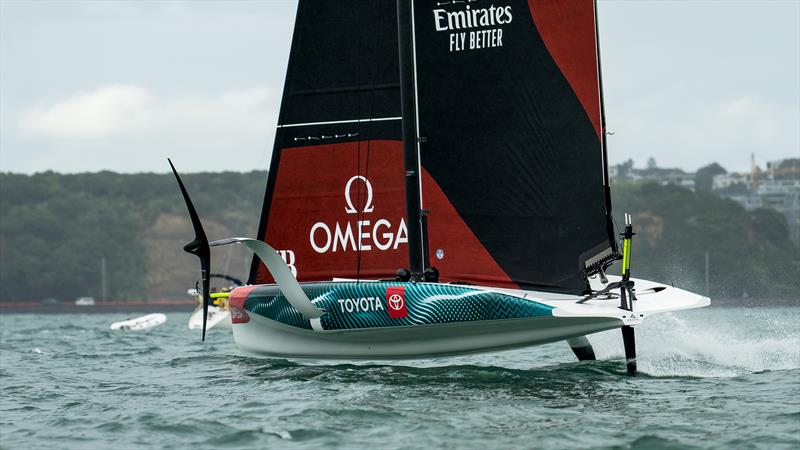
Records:
{"label": "black and red mainsail behind the mast, printed Emirates FLY BETTER", "polygon": [[616,256],[591,0],[413,2],[430,264],[581,293]]}

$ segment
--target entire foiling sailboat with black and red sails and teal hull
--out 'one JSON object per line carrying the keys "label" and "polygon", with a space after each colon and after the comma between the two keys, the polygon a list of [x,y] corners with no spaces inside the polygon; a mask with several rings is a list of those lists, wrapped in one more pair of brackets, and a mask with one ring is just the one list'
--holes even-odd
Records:
{"label": "entire foiling sailboat with black and red sails and teal hull", "polygon": [[[630,278],[611,216],[591,0],[301,0],[256,256],[251,355],[399,359],[633,327],[708,298]],[[171,163],[170,163],[171,164]],[[605,270],[623,259],[623,275]],[[205,337],[205,325],[203,328]]]}

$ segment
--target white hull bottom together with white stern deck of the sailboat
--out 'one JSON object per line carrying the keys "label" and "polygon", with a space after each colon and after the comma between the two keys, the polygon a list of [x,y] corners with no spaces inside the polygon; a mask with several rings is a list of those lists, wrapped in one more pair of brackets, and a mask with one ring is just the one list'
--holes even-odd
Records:
{"label": "white hull bottom together with white stern deck of the sailboat", "polygon": [[[601,288],[597,282],[594,288]],[[242,352],[259,357],[318,359],[409,359],[492,352],[585,336],[674,310],[707,306],[710,301],[691,292],[636,280],[640,292],[635,313],[619,308],[619,300],[589,300],[543,292],[489,289],[554,307],[552,316],[481,320],[460,323],[308,330],[258,314],[233,324],[233,337]],[[660,290],[654,292],[652,288]]]}

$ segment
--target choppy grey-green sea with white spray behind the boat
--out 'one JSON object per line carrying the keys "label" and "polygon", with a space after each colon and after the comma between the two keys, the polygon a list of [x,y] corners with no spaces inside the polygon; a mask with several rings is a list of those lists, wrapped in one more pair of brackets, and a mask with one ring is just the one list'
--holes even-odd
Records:
{"label": "choppy grey-green sea with white spray behind the boat", "polygon": [[0,316],[0,448],[800,448],[800,308],[720,308],[565,343],[397,362],[242,356],[189,311]]}

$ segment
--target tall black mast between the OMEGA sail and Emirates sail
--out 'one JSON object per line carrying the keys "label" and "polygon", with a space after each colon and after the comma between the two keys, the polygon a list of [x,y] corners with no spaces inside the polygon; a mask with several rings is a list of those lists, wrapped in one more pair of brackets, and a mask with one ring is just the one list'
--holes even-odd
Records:
{"label": "tall black mast between the OMEGA sail and Emirates sail", "polygon": [[420,165],[414,67],[413,0],[397,0],[397,34],[400,49],[400,98],[403,116],[403,154],[408,222],[408,264],[412,280],[421,280],[424,235],[421,218]]}

